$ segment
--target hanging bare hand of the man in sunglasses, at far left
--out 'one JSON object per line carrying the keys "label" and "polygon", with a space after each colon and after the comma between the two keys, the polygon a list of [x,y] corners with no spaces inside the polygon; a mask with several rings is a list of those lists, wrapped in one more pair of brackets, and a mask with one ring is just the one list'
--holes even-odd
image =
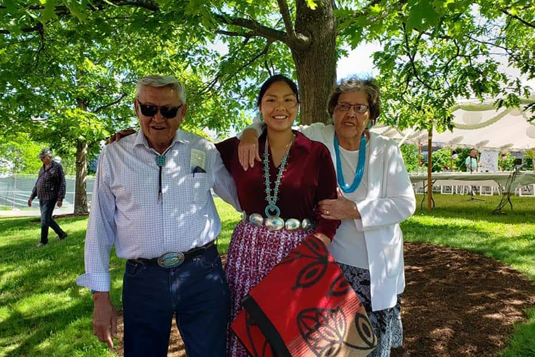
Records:
{"label": "hanging bare hand of the man in sunglasses, at far left", "polygon": [[99,341],[113,348],[112,337],[117,333],[117,314],[111,303],[109,292],[97,292],[93,294],[95,305],[93,311],[93,334]]}

